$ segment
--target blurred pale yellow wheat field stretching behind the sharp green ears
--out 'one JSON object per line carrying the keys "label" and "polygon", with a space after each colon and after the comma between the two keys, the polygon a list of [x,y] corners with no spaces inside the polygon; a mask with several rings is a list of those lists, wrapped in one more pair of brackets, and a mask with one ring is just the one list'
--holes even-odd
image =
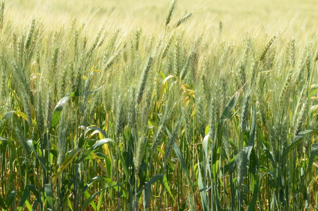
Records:
{"label": "blurred pale yellow wheat field stretching behind the sharp green ears", "polygon": [[[148,29],[144,33],[154,33],[160,30],[158,25],[162,25],[165,18],[162,14],[166,13],[168,5],[168,0],[14,0],[8,1],[7,14],[18,26],[21,26],[21,20],[38,17],[53,28],[69,24],[77,17],[91,26],[86,31],[93,32],[92,29],[103,23],[108,27],[125,26],[126,29],[127,26],[142,26]],[[174,19],[187,10],[195,11],[190,22],[196,29],[206,28],[213,34],[222,21],[224,32],[230,38],[247,31],[262,36],[283,30],[299,36],[314,36],[318,27],[316,0],[182,0]]]}

